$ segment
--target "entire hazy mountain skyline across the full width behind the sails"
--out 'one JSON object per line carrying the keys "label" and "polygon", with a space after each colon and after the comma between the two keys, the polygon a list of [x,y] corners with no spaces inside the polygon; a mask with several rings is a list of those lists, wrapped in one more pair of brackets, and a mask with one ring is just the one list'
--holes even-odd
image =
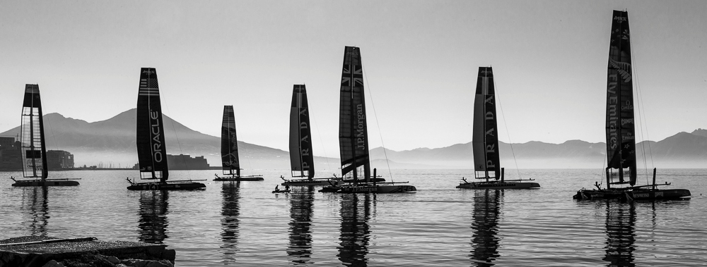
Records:
{"label": "entire hazy mountain skyline across the full width behind the sails", "polygon": [[[221,139],[205,135],[187,126],[163,118],[169,154],[204,156],[211,166],[221,164]],[[47,149],[66,150],[74,154],[76,166],[103,163],[103,166],[133,166],[137,162],[135,147],[136,110],[131,109],[117,116],[87,123],[84,120],[65,118],[59,113],[44,116]],[[171,130],[170,128],[174,128]],[[2,136],[19,135],[20,127],[1,132]],[[177,143],[177,135],[179,142]],[[287,151],[272,149],[245,142],[238,143],[240,159],[245,169],[289,169]],[[570,140],[562,144],[527,142],[506,144],[501,142],[501,165],[506,168],[601,168],[606,166],[606,144]],[[679,132],[660,142],[645,141],[636,145],[638,166],[643,166],[643,149],[648,166],[657,168],[706,168],[707,130]],[[650,155],[650,156],[648,156]],[[376,168],[472,168],[471,142],[454,144],[437,149],[417,148],[405,151],[370,151]],[[339,173],[339,159],[315,157],[317,172],[321,175]]]}

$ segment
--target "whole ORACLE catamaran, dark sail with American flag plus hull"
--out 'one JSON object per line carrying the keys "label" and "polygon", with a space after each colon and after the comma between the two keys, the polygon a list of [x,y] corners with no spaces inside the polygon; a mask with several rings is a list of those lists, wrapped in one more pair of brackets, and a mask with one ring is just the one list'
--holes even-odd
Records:
{"label": "whole ORACLE catamaran, dark sail with American flag plus hull", "polygon": [[155,68],[141,68],[140,86],[137,96],[136,144],[140,180],[152,182],[130,182],[128,190],[193,190],[206,188],[201,182],[192,180],[170,181],[167,166],[165,126],[162,123],[160,87]]}

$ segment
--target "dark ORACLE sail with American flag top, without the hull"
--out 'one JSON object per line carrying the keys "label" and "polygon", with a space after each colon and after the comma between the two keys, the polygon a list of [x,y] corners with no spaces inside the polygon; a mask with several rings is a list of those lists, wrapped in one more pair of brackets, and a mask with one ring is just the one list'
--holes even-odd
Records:
{"label": "dark ORACLE sail with American flag top, without the hull", "polygon": [[143,179],[169,178],[160,87],[155,68],[141,68],[137,97],[137,156]]}

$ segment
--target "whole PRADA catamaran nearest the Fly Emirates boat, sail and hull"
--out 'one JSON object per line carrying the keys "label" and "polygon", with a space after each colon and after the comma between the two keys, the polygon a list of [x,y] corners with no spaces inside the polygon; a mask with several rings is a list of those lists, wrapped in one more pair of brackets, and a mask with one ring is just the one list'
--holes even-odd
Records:
{"label": "whole PRADA catamaran nearest the Fly Emirates boat, sail and hull", "polygon": [[[457,185],[461,189],[526,189],[538,188],[537,182],[530,180],[506,180],[504,169],[501,168],[498,146],[498,127],[496,116],[496,92],[494,91],[493,69],[479,67],[477,93],[474,97],[474,134],[472,135],[472,150],[474,151],[474,178],[479,182],[464,182]],[[483,175],[479,176],[479,173]]]}

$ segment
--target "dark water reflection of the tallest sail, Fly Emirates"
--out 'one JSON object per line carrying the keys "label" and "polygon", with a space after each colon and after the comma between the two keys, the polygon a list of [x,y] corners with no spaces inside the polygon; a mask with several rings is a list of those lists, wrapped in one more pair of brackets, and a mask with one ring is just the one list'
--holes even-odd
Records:
{"label": "dark water reflection of the tallest sail, Fly Emirates", "polygon": [[[602,203],[604,204],[604,203]],[[636,206],[633,201],[621,203],[606,201],[607,246],[604,261],[607,266],[635,266]]]}

